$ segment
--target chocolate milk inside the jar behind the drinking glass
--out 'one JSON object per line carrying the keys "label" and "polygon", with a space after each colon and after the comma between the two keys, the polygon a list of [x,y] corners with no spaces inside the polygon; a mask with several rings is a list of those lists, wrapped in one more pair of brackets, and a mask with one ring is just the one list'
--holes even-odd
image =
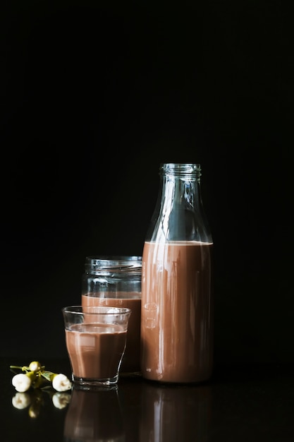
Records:
{"label": "chocolate milk inside the jar behind the drinking glass", "polygon": [[108,292],[103,292],[103,297],[82,294],[82,306],[111,306],[131,309],[127,343],[120,372],[133,373],[140,371],[141,294],[137,292],[118,292],[117,298],[108,296],[111,296]]}

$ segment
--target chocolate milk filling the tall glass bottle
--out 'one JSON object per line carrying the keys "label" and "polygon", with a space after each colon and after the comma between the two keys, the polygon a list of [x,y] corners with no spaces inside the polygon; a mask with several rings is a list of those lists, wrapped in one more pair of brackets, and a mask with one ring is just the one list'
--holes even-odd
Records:
{"label": "chocolate milk filling the tall glass bottle", "polygon": [[142,256],[142,376],[205,381],[212,373],[212,244],[145,242]]}

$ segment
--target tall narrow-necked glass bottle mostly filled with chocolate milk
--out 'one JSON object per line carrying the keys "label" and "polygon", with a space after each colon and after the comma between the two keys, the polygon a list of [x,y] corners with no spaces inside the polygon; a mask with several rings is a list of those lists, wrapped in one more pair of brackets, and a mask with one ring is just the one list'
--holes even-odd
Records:
{"label": "tall narrow-necked glass bottle mostly filled with chocolate milk", "polygon": [[164,163],[142,254],[141,372],[166,383],[207,381],[213,364],[212,235],[200,165]]}

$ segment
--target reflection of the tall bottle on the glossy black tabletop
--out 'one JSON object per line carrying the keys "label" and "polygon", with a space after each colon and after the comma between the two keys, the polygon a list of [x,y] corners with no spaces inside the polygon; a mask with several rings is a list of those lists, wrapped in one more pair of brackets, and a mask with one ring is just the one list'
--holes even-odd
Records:
{"label": "reflection of the tall bottle on the glossy black tabletop", "polygon": [[207,441],[209,386],[144,383],[140,442]]}

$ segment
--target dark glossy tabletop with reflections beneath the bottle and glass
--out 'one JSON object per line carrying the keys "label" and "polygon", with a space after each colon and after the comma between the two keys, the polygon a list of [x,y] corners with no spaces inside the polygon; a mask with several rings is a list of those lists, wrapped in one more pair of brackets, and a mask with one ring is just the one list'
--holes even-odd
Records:
{"label": "dark glossy tabletop with reflections beneath the bottle and glass", "polygon": [[[1,441],[294,441],[294,367],[221,367],[202,385],[121,376],[117,388],[17,395],[1,358]],[[42,361],[70,377],[67,360]]]}

